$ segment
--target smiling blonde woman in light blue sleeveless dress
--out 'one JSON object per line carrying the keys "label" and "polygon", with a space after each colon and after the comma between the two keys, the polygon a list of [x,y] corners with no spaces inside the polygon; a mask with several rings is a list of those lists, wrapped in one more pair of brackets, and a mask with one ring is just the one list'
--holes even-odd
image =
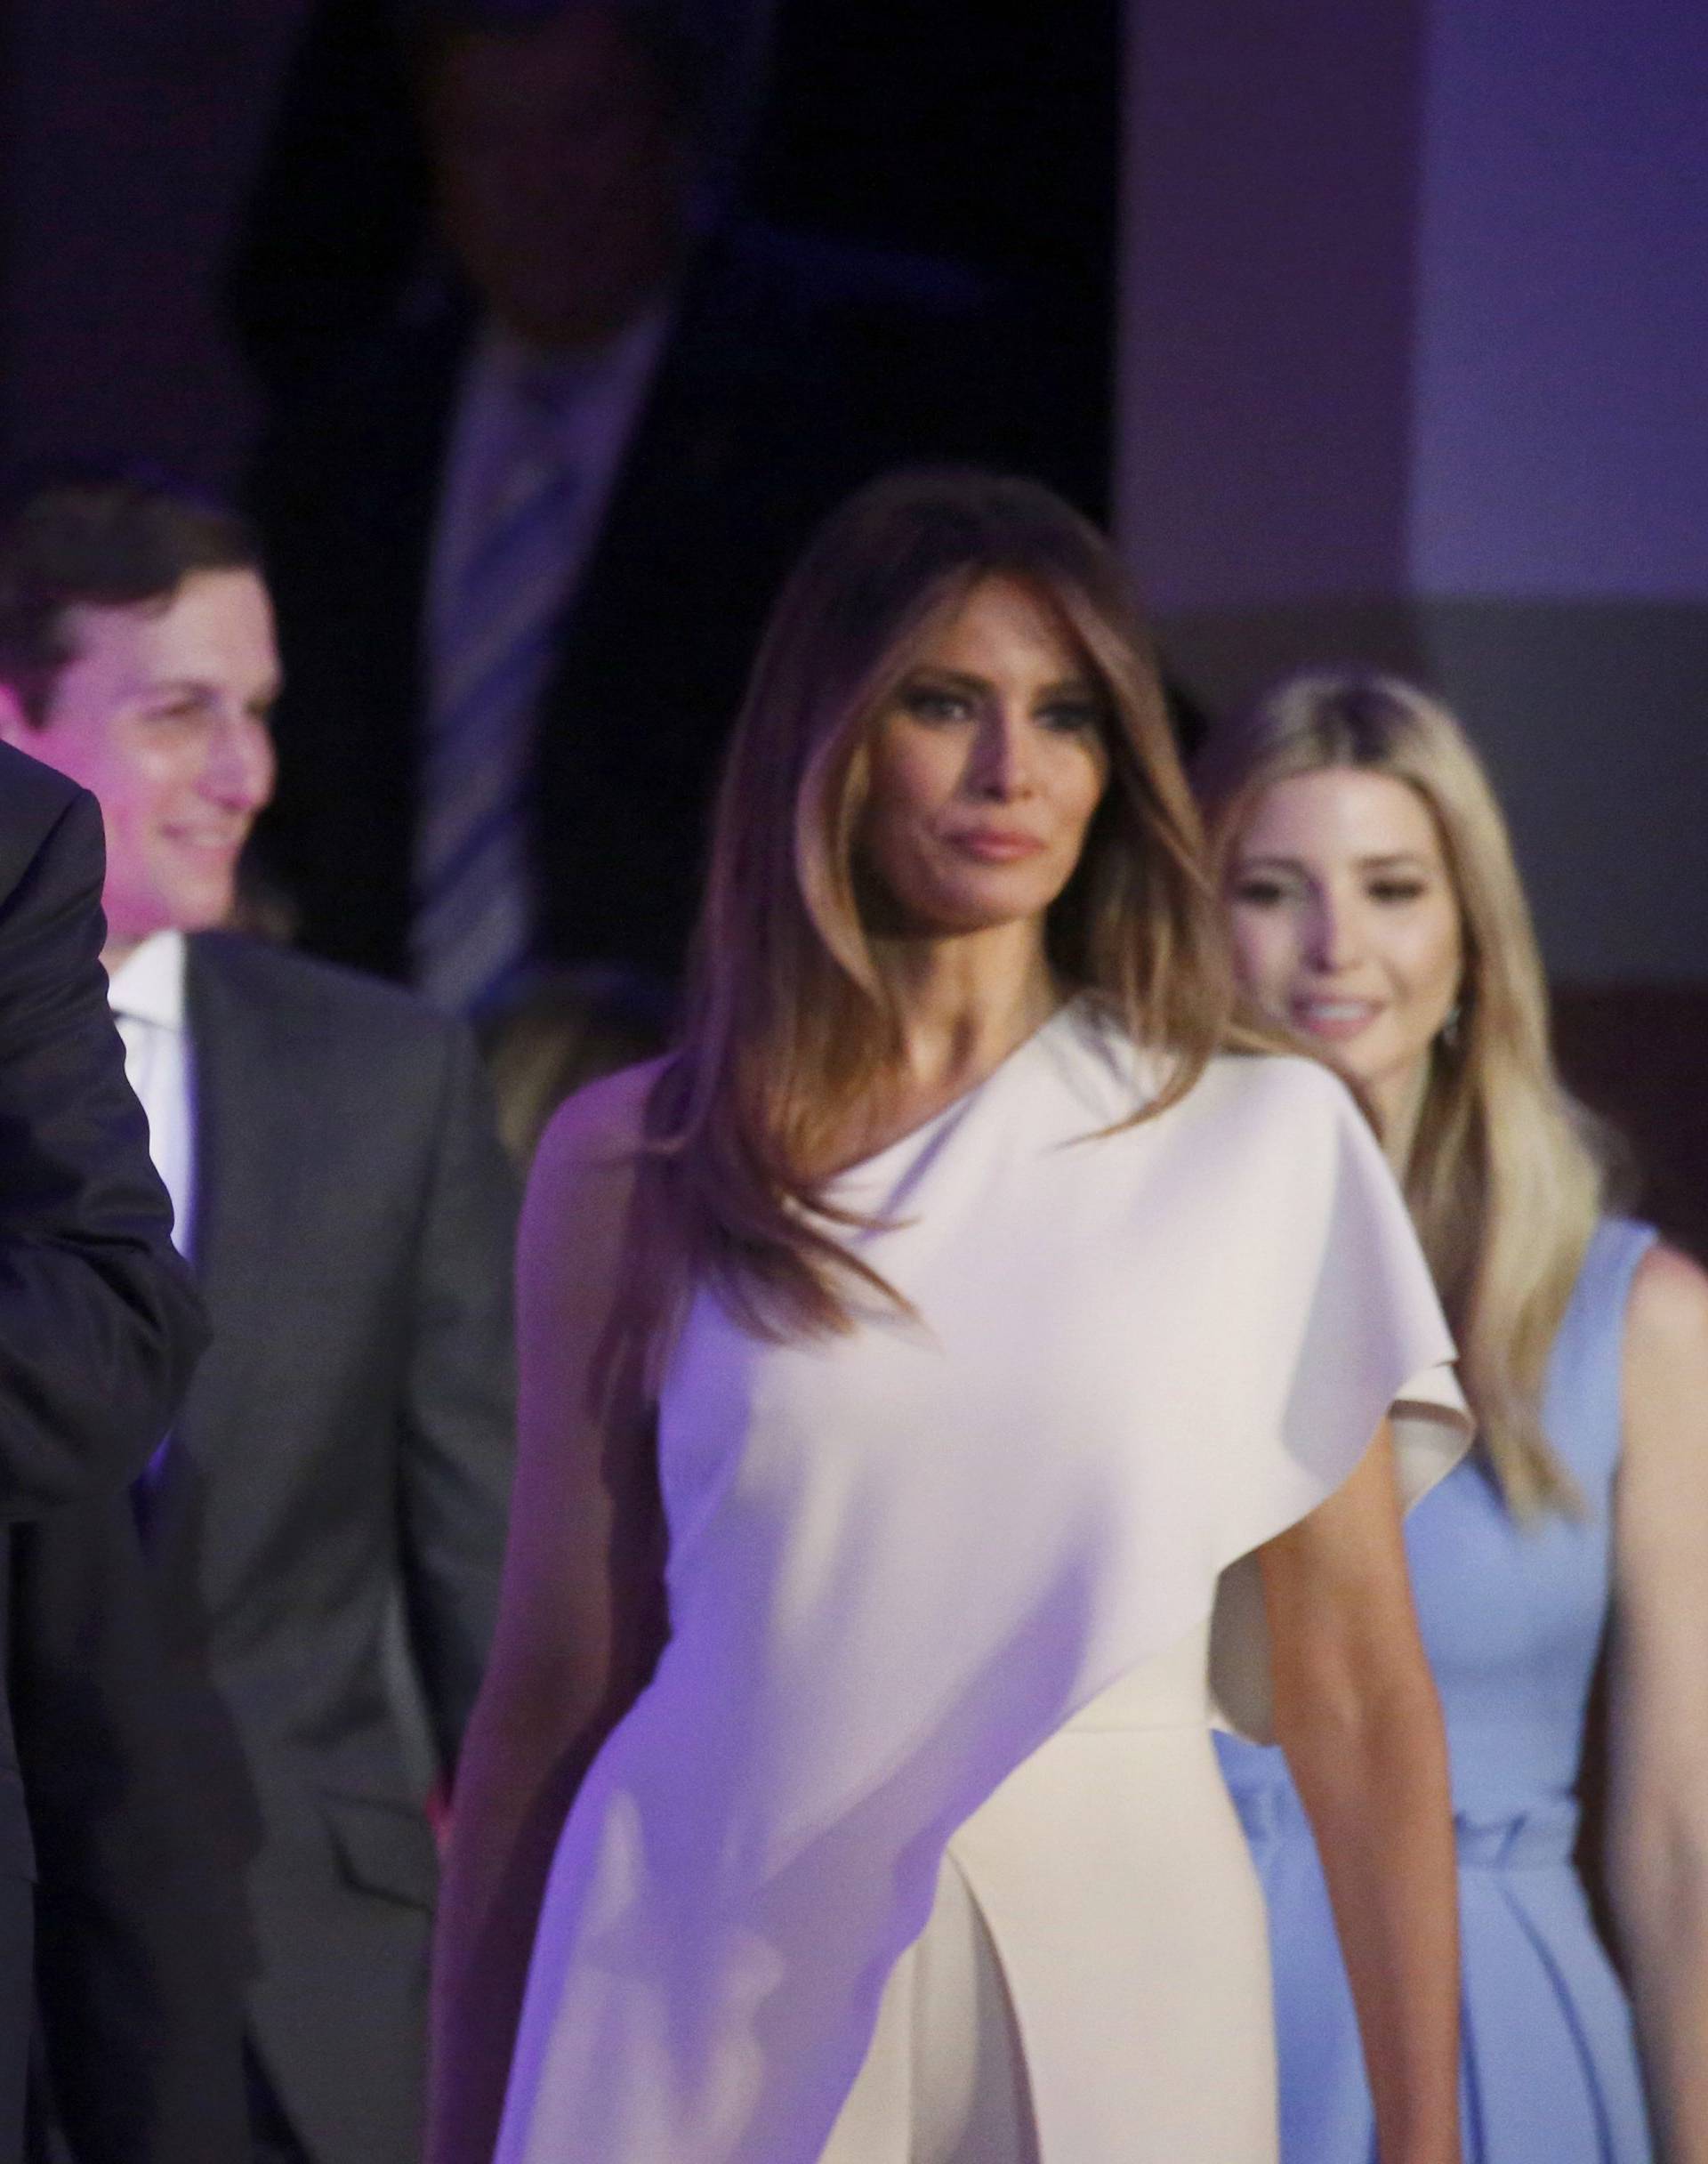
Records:
{"label": "smiling blonde woman in light blue sleeveless dress", "polygon": [[[1366,1091],[1453,1320],[1481,1448],[1407,1528],[1448,1718],[1474,2164],[1708,2164],[1708,1279],[1604,1214],[1548,1050],[1489,783],[1409,684],[1273,690],[1199,770],[1238,967]],[[1608,1881],[1572,1865],[1613,1623]],[[1372,2110],[1310,1833],[1271,1751],[1223,1764],[1271,1904],[1288,2164]]]}

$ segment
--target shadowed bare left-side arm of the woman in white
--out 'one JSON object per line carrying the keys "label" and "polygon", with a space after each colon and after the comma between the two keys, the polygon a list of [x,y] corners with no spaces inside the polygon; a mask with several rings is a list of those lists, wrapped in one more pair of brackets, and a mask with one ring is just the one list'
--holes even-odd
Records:
{"label": "shadowed bare left-side arm of the woman in white", "polygon": [[559,1831],[665,1640],[654,1422],[606,1389],[647,1069],[541,1140],[517,1246],[517,1467],[433,1958],[431,2164],[489,2164]]}

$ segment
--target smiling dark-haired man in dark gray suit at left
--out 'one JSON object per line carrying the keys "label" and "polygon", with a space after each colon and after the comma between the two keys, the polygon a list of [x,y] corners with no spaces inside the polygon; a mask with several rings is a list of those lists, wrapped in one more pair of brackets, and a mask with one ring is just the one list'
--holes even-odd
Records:
{"label": "smiling dark-haired man in dark gray suit at left", "polygon": [[413,2164],[435,1848],[381,1649],[400,1593],[448,1768],[509,1495],[511,1177],[461,1028],[219,931],[273,786],[247,528],[67,480],[0,576],[0,738],[100,799],[113,1011],[214,1333],[139,1513],[214,1686],[186,1749],[245,1870],[253,2155]]}

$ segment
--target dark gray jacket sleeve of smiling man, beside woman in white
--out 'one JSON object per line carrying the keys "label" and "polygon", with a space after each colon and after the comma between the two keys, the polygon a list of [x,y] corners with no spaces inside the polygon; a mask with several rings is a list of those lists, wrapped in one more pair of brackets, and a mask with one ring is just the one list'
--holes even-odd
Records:
{"label": "dark gray jacket sleeve of smiling man, beside woman in white", "polygon": [[515,1175],[474,1045],[448,1037],[422,1208],[400,1469],[416,1664],[444,1766],[481,1688],[515,1446]]}

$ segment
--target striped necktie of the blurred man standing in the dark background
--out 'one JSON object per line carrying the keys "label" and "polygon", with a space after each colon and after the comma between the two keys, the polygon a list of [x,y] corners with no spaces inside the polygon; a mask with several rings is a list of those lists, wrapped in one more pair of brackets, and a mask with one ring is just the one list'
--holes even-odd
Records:
{"label": "striped necktie of the blurred man standing in the dark background", "polygon": [[416,985],[448,1013],[504,995],[535,937],[528,779],[567,602],[580,483],[524,383],[504,485],[457,576],[435,656],[416,829]]}

